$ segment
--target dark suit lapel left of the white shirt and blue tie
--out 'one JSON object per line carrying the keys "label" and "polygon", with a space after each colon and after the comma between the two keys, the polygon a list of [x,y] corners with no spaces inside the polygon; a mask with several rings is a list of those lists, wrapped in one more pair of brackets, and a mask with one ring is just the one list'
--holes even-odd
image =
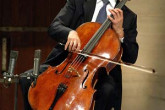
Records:
{"label": "dark suit lapel left of the white shirt and blue tie", "polygon": [[96,0],[85,0],[83,5],[85,22],[90,22],[92,20],[95,6]]}

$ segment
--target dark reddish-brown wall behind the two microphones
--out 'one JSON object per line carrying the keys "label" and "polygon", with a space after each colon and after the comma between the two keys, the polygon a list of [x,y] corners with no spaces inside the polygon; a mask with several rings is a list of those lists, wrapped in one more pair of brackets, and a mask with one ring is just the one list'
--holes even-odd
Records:
{"label": "dark reddish-brown wall behind the two microphones", "polygon": [[[47,28],[66,0],[0,0],[0,27],[45,27]],[[0,62],[2,62],[2,38],[7,38],[7,65],[10,50],[19,51],[15,74],[33,67],[36,49],[42,50],[41,63],[54,47],[55,42],[47,32],[2,32],[0,31]],[[2,63],[0,72],[2,72]],[[0,74],[2,78],[2,74]],[[14,109],[14,84],[4,88],[0,84],[0,110]],[[18,88],[18,110],[23,110],[23,98]]]}

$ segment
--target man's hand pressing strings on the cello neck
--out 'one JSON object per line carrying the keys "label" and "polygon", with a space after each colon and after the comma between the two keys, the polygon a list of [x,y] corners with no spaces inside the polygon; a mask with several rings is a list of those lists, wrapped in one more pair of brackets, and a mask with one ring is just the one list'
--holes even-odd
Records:
{"label": "man's hand pressing strings on the cello neck", "polygon": [[109,10],[113,15],[113,18],[108,15],[108,18],[112,21],[112,28],[116,31],[119,38],[124,37],[123,31],[123,11],[121,9]]}

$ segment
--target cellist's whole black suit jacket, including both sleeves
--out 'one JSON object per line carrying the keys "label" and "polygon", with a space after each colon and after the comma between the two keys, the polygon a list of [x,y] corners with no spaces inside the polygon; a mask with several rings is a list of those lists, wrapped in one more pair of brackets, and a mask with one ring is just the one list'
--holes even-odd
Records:
{"label": "cellist's whole black suit jacket, including both sleeves", "polygon": [[[63,44],[67,41],[67,36],[71,30],[85,22],[90,22],[95,10],[96,0],[68,0],[58,15],[51,23],[48,33],[57,42]],[[138,55],[137,36],[137,16],[126,6],[122,8],[124,12],[124,42],[121,43],[123,48],[122,60],[129,63],[135,63]],[[55,66],[67,57],[67,51],[64,47],[57,44],[48,56],[45,64]],[[120,66],[116,66],[110,75],[116,82],[116,108],[121,107],[122,97],[122,76]]]}

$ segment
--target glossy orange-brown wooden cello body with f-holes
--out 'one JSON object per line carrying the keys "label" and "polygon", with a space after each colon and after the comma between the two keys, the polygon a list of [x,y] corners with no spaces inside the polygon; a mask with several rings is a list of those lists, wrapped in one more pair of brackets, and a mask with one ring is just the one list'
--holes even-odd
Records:
{"label": "glossy orange-brown wooden cello body with f-holes", "polygon": [[[100,26],[99,23],[88,22],[76,29],[81,40],[81,50]],[[110,28],[91,50],[91,54],[113,61],[118,61],[122,54],[119,38]],[[98,71],[101,67],[109,73],[115,64],[69,53],[60,65],[50,66],[39,75],[34,88],[30,87],[28,99],[31,107],[34,110],[92,110],[96,91],[94,86],[97,75],[101,74]]]}

